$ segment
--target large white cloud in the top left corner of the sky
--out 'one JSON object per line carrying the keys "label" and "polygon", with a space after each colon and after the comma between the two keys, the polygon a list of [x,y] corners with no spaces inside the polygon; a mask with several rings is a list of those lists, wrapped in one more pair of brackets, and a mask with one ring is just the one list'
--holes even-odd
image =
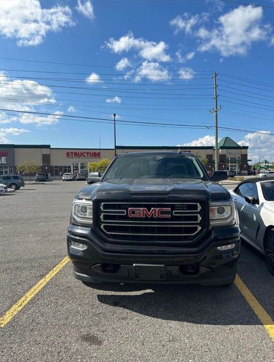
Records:
{"label": "large white cloud in the top left corner of the sky", "polygon": [[38,0],[1,0],[0,34],[16,38],[17,45],[39,45],[47,32],[73,26],[69,6],[42,9]]}

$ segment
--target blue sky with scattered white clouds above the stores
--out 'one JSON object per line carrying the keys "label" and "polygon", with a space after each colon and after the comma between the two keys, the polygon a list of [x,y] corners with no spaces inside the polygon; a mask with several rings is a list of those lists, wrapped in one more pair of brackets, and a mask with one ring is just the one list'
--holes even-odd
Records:
{"label": "blue sky with scattered white clouds above the stores", "polygon": [[117,145],[213,145],[216,72],[219,138],[274,161],[274,1],[256,4],[1,0],[0,143],[113,148],[116,113]]}

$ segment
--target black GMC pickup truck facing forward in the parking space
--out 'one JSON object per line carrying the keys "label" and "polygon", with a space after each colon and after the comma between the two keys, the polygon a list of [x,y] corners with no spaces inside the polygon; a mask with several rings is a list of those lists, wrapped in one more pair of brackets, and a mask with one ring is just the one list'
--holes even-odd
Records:
{"label": "black GMC pickup truck facing forward in the parking space", "polygon": [[229,285],[240,253],[229,192],[195,154],[116,156],[79,191],[67,233],[75,278],[84,282]]}

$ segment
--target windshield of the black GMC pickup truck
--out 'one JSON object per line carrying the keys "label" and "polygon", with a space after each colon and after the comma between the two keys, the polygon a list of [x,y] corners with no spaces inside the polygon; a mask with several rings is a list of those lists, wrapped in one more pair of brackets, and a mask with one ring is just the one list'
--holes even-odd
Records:
{"label": "windshield of the black GMC pickup truck", "polygon": [[208,180],[196,158],[188,154],[131,154],[116,158],[103,180],[197,178]]}

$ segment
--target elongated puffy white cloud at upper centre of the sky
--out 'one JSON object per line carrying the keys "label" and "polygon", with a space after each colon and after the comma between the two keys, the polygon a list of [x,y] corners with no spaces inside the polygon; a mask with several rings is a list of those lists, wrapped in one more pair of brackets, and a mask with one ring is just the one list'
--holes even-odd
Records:
{"label": "elongated puffy white cloud at upper centre of the sky", "polygon": [[105,42],[105,46],[114,53],[122,53],[133,49],[138,51],[138,56],[147,60],[158,60],[158,62],[169,62],[171,60],[171,57],[166,54],[168,49],[166,43],[163,41],[155,43],[143,38],[134,38],[132,32],[121,36],[119,40],[110,38],[108,42]]}

